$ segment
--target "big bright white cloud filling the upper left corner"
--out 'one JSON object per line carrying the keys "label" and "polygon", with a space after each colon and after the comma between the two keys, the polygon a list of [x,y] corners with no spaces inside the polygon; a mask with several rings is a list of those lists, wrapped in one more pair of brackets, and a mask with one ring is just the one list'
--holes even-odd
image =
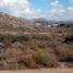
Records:
{"label": "big bright white cloud filling the upper left corner", "polygon": [[22,17],[36,17],[40,10],[35,10],[28,0],[0,0],[0,11]]}

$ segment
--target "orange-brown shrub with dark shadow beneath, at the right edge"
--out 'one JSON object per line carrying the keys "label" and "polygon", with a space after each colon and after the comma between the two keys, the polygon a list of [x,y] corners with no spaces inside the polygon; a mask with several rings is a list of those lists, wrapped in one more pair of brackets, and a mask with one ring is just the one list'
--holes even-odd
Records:
{"label": "orange-brown shrub with dark shadow beneath, at the right edge", "polygon": [[71,62],[73,61],[73,50],[70,48],[61,48],[59,51],[60,61]]}

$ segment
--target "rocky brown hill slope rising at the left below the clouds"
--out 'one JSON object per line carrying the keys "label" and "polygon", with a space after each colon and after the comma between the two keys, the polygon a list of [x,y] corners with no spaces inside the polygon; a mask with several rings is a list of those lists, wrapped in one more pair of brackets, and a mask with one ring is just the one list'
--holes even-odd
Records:
{"label": "rocky brown hill slope rising at the left below the clouds", "polygon": [[0,32],[31,32],[33,31],[33,22],[26,19],[15,17],[7,13],[0,13]]}

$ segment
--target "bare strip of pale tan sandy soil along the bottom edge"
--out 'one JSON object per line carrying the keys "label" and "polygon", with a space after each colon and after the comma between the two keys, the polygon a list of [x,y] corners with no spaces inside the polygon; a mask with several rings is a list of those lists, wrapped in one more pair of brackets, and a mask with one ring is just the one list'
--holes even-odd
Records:
{"label": "bare strip of pale tan sandy soil along the bottom edge", "polygon": [[16,70],[0,71],[0,73],[73,73],[73,69]]}

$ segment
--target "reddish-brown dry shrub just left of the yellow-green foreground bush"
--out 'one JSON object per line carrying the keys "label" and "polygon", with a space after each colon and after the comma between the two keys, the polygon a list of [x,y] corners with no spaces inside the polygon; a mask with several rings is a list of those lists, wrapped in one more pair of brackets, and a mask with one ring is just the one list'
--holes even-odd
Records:
{"label": "reddish-brown dry shrub just left of the yellow-green foreground bush", "polygon": [[33,54],[25,54],[24,57],[20,58],[19,63],[24,63],[25,66],[29,69],[35,69],[37,68],[35,58]]}

